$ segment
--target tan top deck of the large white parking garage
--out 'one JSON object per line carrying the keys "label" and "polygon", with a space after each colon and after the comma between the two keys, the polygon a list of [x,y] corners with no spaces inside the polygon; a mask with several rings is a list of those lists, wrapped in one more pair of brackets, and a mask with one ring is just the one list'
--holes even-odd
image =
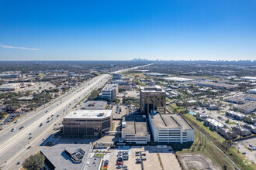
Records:
{"label": "tan top deck of the large white parking garage", "polygon": [[186,122],[181,115],[178,114],[159,114],[151,113],[151,120],[157,128],[178,129],[183,130],[192,129],[188,122]]}

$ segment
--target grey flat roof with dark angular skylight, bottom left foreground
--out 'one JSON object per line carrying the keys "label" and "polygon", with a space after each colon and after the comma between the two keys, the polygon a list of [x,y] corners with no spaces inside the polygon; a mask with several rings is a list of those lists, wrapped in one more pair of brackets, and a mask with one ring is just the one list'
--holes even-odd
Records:
{"label": "grey flat roof with dark angular skylight, bottom left foreground", "polygon": [[[81,169],[91,148],[92,145],[90,144],[58,144],[52,147],[43,147],[41,152],[54,165],[55,170]],[[70,155],[70,153],[74,154],[74,151],[84,151],[84,155],[79,157],[81,162],[76,162]]]}

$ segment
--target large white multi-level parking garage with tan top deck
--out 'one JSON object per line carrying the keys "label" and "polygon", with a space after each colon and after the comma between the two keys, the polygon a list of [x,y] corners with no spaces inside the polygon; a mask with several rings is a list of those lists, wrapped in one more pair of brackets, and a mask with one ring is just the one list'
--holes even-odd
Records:
{"label": "large white multi-level parking garage with tan top deck", "polygon": [[194,129],[178,114],[150,113],[151,135],[159,143],[194,141]]}

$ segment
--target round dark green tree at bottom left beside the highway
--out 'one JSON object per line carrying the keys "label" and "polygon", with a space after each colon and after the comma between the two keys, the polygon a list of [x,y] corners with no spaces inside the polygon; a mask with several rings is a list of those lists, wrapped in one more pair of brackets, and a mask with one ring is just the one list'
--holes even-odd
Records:
{"label": "round dark green tree at bottom left beside the highway", "polygon": [[29,158],[26,158],[23,163],[23,167],[28,170],[40,170],[40,168],[43,168],[44,160],[45,158],[41,154],[31,155]]}

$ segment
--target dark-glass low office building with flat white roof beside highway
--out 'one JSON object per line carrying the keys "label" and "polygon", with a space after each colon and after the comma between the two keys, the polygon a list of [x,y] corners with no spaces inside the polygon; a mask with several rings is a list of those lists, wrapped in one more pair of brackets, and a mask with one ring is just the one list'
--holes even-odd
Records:
{"label": "dark-glass low office building with flat white roof beside highway", "polygon": [[112,110],[75,110],[63,120],[64,134],[98,136],[110,131]]}

